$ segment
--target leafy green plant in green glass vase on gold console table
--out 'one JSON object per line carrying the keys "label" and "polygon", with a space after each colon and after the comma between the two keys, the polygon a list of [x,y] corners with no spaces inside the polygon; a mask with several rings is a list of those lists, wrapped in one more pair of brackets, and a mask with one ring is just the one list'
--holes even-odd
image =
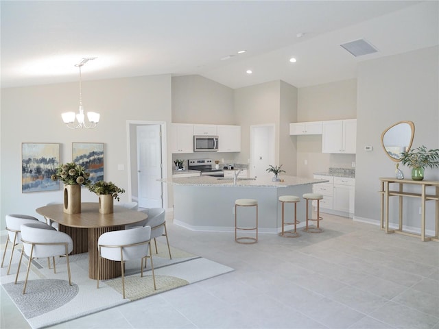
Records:
{"label": "leafy green plant in green glass vase on gold console table", "polygon": [[412,180],[424,179],[424,168],[439,167],[439,149],[427,149],[424,145],[401,152],[401,163],[412,168]]}

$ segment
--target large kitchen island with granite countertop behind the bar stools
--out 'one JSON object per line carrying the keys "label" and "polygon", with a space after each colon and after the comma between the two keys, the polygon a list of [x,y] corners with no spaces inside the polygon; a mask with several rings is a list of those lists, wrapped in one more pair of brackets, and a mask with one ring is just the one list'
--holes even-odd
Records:
{"label": "large kitchen island with granite countertop behind the bar stools", "polygon": [[[312,193],[313,184],[327,182],[313,178],[281,175],[281,182],[271,177],[241,178],[236,181],[209,176],[173,178],[163,180],[174,189],[174,223],[189,230],[226,231],[235,230],[235,200],[257,199],[259,204],[259,232],[278,233],[281,230],[282,211],[278,197],[296,195],[301,201],[297,207],[299,226],[305,225],[305,200],[303,193]],[[285,218],[294,216],[292,204],[285,205]],[[247,217],[239,209],[239,216]],[[254,221],[253,215],[248,215]],[[288,229],[288,228],[287,228]]]}

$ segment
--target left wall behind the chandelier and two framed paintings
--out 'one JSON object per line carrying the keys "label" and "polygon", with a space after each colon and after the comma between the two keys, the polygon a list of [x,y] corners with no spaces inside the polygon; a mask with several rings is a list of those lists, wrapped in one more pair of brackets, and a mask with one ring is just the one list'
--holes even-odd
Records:
{"label": "left wall behind the chandelier and two framed paintings", "polygon": [[[171,76],[130,77],[82,82],[84,109],[101,114],[94,130],[70,130],[61,112],[78,111],[78,83],[1,89],[1,230],[5,215],[36,215],[47,202],[62,200],[62,190],[21,193],[21,143],[60,143],[61,161],[71,161],[72,142],[104,143],[104,179],[128,186],[126,120],[171,122]],[[170,154],[168,154],[170,158]],[[117,169],[118,164],[124,170]],[[168,175],[171,174],[169,169]],[[97,197],[83,189],[84,202]],[[121,195],[128,201],[128,193]],[[40,217],[41,218],[41,217]]]}

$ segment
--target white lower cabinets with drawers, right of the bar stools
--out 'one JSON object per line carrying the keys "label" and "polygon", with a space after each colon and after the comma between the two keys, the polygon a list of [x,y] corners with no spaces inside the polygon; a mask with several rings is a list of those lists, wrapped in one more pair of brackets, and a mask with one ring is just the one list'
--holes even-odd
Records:
{"label": "white lower cabinets with drawers, right of the bar stools", "polygon": [[[323,195],[323,199],[320,200],[320,210],[335,215],[353,217],[355,210],[355,178],[328,175],[314,175],[313,177],[320,180],[329,180],[327,183],[313,185],[313,193]],[[313,202],[313,205],[317,206],[316,202]]]}

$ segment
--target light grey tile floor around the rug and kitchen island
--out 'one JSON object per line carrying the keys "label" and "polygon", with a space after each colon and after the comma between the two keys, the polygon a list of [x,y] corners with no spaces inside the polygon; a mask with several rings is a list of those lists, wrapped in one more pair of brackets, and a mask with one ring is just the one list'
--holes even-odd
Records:
{"label": "light grey tile floor around the rug and kitchen island", "polygon": [[[235,271],[51,328],[439,329],[439,243],[327,214],[322,234],[254,245],[167,226],[171,245]],[[0,327],[29,328],[3,289]]]}

